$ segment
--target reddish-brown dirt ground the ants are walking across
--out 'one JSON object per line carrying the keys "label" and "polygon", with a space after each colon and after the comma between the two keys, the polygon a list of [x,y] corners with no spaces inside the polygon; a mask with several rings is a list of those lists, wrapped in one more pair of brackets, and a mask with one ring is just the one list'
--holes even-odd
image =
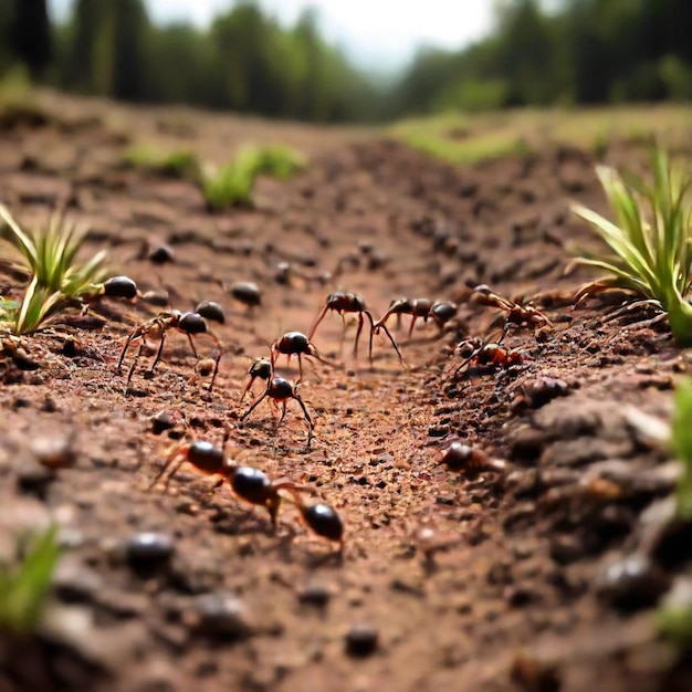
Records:
{"label": "reddish-brown dirt ground the ants are walking across", "polygon": [[[674,465],[642,422],[670,416],[688,357],[664,324],[629,326],[650,314],[608,319],[621,296],[573,308],[556,293],[587,276],[564,269],[566,245],[588,241],[569,201],[602,209],[590,155],[454,169],[360,132],[144,109],[114,125],[107,104],[53,107],[49,123],[6,123],[0,198],[29,226],[69,201],[115,274],[167,292],[172,308],[218,302],[223,357],[209,392],[171,333],[156,375],[145,350],[126,391],[136,349],[117,374],[124,339],[160,308],[104,300],[93,318],[28,339],[36,369],[2,364],[0,525],[55,521],[64,545],[45,625],[0,649],[2,692],[692,689],[654,622],[690,541],[661,535]],[[210,214],[193,184],[118,166],[157,136],[218,158],[249,138],[285,141],[311,162],[289,182],[261,180],[254,209]],[[641,150],[607,158],[637,165]],[[161,243],[171,262],[148,259]],[[258,284],[261,306],[231,297],[238,281]],[[553,326],[512,331],[511,367],[455,374],[454,345],[502,324],[470,300],[480,283],[538,296]],[[21,292],[13,275],[0,284]],[[252,359],[285,332],[307,334],[335,290],[360,294],[376,319],[398,297],[453,301],[458,315],[443,334],[419,321],[411,338],[410,317],[392,317],[405,366],[380,333],[370,367],[367,338],[355,359],[353,321],[342,346],[328,312],[313,338],[328,363],[304,358],[298,390],[312,443],[295,401],[281,426],[264,402],[241,421]],[[295,359],[277,374],[295,380]],[[161,412],[178,424],[155,434]],[[174,445],[227,432],[240,463],[338,511],[342,559],[290,502],[272,532],[266,512],[226,487],[210,495],[191,466],[168,493],[148,490]],[[72,450],[67,468],[40,463],[50,440]],[[453,441],[496,461],[450,469]]]}

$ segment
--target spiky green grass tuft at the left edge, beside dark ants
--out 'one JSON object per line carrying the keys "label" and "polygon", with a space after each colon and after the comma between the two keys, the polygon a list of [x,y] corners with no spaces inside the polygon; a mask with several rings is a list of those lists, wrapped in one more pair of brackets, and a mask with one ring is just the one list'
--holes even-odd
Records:
{"label": "spiky green grass tuft at the left edge, beside dark ants", "polygon": [[0,238],[18,251],[31,273],[21,304],[0,306],[0,322],[11,333],[31,334],[71,301],[95,292],[104,279],[106,253],[101,250],[85,262],[77,260],[86,231],[55,212],[46,228],[30,233],[0,205]]}

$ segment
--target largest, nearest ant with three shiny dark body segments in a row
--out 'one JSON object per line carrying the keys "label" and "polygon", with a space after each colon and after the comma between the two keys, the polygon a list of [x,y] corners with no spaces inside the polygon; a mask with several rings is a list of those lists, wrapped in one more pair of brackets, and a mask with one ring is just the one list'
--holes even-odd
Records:
{"label": "largest, nearest ant with three shiny dark body segments in a row", "polygon": [[207,475],[221,476],[210,489],[210,492],[213,492],[223,483],[228,483],[235,497],[252,505],[264,507],[270,515],[274,531],[276,530],[279,507],[282,499],[284,499],[280,494],[280,491],[285,490],[291,494],[291,497],[286,497],[286,500],[295,504],[307,527],[316,535],[338,543],[340,554],[344,542],[344,524],[336,510],[322,502],[305,504],[300,495],[300,491],[312,490],[308,486],[298,485],[286,478],[272,481],[266,473],[260,469],[231,463],[226,453],[228,437],[227,433],[223,438],[222,447],[216,447],[211,442],[196,440],[193,442],[186,442],[174,449],[172,452],[168,454],[164,466],[149,485],[149,490],[153,490],[166,471],[172,466],[164,484],[164,489],[167,490],[170,479],[185,462],[188,462]]}

